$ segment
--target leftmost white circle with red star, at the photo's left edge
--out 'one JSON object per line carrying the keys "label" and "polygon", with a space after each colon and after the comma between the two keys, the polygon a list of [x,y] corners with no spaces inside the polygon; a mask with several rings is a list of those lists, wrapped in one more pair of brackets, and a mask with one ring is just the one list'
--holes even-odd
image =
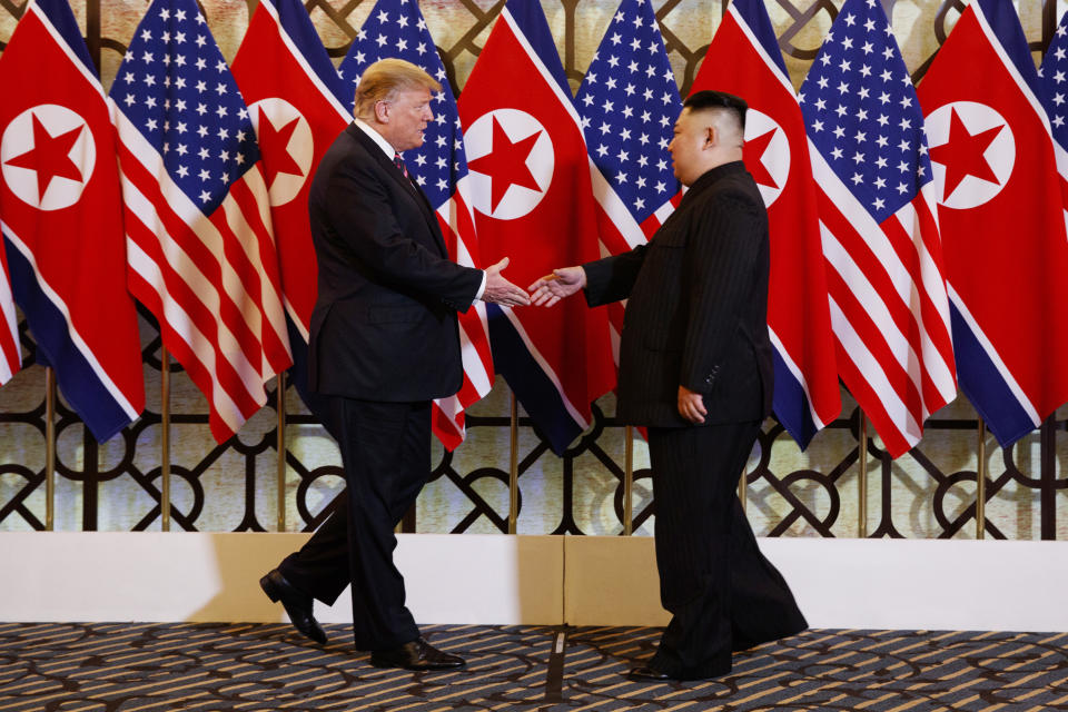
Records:
{"label": "leftmost white circle with red star, at the photo's left edge", "polygon": [[[34,128],[34,119],[39,128]],[[37,136],[42,139],[41,146]],[[47,150],[44,141],[52,151]],[[68,142],[66,154],[55,152],[57,145]],[[41,162],[46,156],[47,165]],[[0,138],[3,180],[20,200],[40,210],[62,210],[78,202],[96,165],[97,145],[89,125],[80,115],[56,103],[27,109],[11,119]]]}

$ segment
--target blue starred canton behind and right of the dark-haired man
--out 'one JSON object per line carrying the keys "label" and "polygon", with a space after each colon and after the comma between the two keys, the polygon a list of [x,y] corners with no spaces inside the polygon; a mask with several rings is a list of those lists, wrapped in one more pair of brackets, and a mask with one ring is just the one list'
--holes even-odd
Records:
{"label": "blue starred canton behind and right of the dark-haired man", "polygon": [[798,99],[809,138],[878,222],[930,180],[923,113],[878,0],[847,0]]}

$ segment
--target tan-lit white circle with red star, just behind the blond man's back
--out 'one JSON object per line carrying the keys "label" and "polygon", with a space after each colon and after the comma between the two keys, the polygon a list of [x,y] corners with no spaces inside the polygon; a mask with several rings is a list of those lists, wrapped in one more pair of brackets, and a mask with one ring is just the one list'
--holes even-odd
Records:
{"label": "tan-lit white circle with red star, just behind the blond man's back", "polygon": [[[300,194],[315,158],[312,126],[285,99],[261,99],[248,107],[263,156],[271,207],[286,205]],[[270,126],[260,126],[265,117]]]}

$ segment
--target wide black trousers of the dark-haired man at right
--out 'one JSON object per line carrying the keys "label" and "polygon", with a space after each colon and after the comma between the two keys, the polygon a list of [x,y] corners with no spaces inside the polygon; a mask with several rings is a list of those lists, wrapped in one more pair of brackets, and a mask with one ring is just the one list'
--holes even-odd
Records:
{"label": "wide black trousers of the dark-haired man at right", "polygon": [[732,651],[808,627],[738,500],[759,431],[760,423],[649,428],[660,595],[672,613],[650,664],[673,678],[725,674]]}

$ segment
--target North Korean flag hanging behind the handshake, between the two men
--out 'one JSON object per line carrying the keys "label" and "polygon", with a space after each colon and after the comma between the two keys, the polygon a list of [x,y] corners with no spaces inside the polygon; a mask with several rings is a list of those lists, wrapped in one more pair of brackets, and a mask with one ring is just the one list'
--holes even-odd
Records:
{"label": "North Korean flag hanging behind the handshake, between the two men", "polygon": [[[541,6],[508,0],[459,99],[483,264],[525,286],[600,257],[590,159]],[[607,317],[581,299],[490,305],[496,369],[557,454],[614,383]]]}

